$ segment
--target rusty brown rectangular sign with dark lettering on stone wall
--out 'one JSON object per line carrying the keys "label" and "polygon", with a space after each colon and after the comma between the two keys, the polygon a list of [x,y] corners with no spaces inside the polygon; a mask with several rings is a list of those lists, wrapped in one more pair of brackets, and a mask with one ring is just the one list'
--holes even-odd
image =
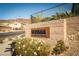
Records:
{"label": "rusty brown rectangular sign with dark lettering on stone wall", "polygon": [[49,27],[42,27],[42,28],[32,28],[31,29],[31,36],[32,37],[49,37]]}

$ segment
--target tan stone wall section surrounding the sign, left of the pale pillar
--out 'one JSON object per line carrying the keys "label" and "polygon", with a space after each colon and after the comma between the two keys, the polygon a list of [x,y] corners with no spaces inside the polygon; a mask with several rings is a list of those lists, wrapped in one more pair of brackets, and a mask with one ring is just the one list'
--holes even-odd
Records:
{"label": "tan stone wall section surrounding the sign, left of the pale pillar", "polygon": [[[31,37],[32,28],[43,28],[43,27],[49,27],[49,29],[50,29],[49,38]],[[57,40],[64,39],[64,20],[52,20],[52,21],[48,21],[48,22],[28,24],[26,26],[25,32],[26,32],[27,38],[51,40],[52,43],[54,44],[57,42]]]}

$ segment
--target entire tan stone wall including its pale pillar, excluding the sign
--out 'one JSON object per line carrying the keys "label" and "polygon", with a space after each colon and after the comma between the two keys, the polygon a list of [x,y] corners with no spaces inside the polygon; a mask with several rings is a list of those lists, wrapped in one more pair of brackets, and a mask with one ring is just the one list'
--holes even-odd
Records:
{"label": "entire tan stone wall including its pale pillar, excluding the sign", "polygon": [[[50,37],[31,37],[31,29],[41,27],[50,28]],[[79,16],[60,20],[52,20],[48,22],[27,24],[25,27],[27,38],[51,40],[53,44],[56,44],[58,40],[63,40],[66,44],[68,44],[69,39],[67,39],[67,37],[77,31],[79,31]]]}

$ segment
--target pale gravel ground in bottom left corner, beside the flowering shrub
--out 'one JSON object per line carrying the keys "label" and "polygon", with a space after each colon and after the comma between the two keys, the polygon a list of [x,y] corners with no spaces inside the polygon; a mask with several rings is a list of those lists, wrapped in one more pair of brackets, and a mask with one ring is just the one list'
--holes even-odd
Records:
{"label": "pale gravel ground in bottom left corner, beside the flowering shrub", "polygon": [[11,56],[11,51],[7,51],[9,50],[10,45],[12,41],[6,41],[2,44],[0,44],[0,56]]}

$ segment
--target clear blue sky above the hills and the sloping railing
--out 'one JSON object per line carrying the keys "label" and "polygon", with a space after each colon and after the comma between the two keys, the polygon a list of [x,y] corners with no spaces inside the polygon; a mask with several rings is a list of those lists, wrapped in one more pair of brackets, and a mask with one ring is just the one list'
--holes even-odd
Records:
{"label": "clear blue sky above the hills and the sloping railing", "polygon": [[0,3],[0,19],[26,18],[30,15],[55,7],[60,3]]}

